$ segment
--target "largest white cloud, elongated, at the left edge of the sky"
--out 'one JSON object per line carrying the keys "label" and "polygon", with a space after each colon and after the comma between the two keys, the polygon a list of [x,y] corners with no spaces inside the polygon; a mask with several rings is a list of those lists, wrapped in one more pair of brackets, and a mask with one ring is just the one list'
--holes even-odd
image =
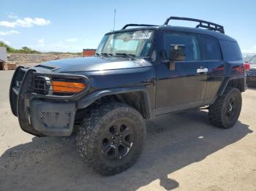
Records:
{"label": "largest white cloud, elongated, at the left edge of the sky", "polygon": [[0,21],[0,26],[5,26],[5,27],[11,27],[15,28],[16,26],[21,26],[21,27],[32,27],[32,26],[46,26],[50,24],[50,20],[45,20],[44,18],[39,18],[39,17],[25,17],[23,19],[17,19],[14,22],[2,20]]}

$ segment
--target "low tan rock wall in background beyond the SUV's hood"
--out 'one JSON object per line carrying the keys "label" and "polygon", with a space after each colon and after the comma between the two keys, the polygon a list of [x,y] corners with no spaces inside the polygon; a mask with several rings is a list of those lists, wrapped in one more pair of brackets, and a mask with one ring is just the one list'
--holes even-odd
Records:
{"label": "low tan rock wall in background beyond the SUV's hood", "polygon": [[9,53],[7,54],[8,61],[22,63],[42,63],[45,61],[53,61],[62,58],[76,58],[80,57],[78,54],[69,53],[53,53],[53,54],[17,54]]}

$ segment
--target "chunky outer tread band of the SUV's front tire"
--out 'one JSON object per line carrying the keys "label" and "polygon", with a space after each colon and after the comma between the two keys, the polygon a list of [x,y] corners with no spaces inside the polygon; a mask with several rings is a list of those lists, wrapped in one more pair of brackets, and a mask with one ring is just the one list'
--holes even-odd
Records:
{"label": "chunky outer tread band of the SUV's front tire", "polygon": [[118,168],[110,168],[103,163],[100,163],[98,160],[94,150],[97,147],[95,145],[95,140],[99,139],[99,132],[102,130],[102,123],[108,121],[108,118],[111,116],[106,117],[106,115],[111,112],[111,115],[115,115],[116,112],[126,112],[130,117],[137,118],[138,123],[142,124],[142,142],[144,144],[146,139],[146,126],[143,117],[141,114],[133,109],[132,107],[128,106],[127,104],[119,103],[119,102],[111,102],[109,104],[102,104],[96,106],[94,109],[91,110],[89,117],[86,117],[83,120],[83,125],[80,126],[80,130],[78,130],[77,136],[77,149],[80,157],[82,157],[83,161],[89,165],[89,167],[93,168],[99,174],[104,176],[118,174],[121,171],[125,171],[129,168],[140,156],[142,151],[143,145],[141,145],[141,149],[139,152],[135,152],[135,155],[132,157],[132,160],[125,165],[122,165]]}

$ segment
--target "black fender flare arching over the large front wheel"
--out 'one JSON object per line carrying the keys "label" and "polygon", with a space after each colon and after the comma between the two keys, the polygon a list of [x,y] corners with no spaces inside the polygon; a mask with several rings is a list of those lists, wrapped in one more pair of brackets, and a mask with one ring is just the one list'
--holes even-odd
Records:
{"label": "black fender flare arching over the large front wheel", "polygon": [[146,118],[149,119],[151,117],[151,104],[148,95],[148,91],[145,86],[132,86],[132,87],[115,87],[110,89],[102,89],[96,90],[88,95],[83,96],[77,101],[77,109],[84,109],[87,106],[97,101],[99,98],[102,98],[106,95],[117,95],[120,93],[132,93],[132,92],[142,92],[143,93],[143,101],[146,106]]}

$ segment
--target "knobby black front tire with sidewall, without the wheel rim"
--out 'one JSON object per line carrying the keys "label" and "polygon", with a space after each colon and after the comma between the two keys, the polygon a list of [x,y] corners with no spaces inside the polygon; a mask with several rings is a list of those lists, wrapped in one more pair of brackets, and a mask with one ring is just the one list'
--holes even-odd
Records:
{"label": "knobby black front tire with sidewall, without the wheel rim", "polygon": [[[124,119],[134,126],[134,143],[123,158],[109,160],[102,155],[99,145],[105,128],[111,122]],[[84,119],[77,136],[77,148],[83,161],[94,171],[103,175],[111,176],[127,170],[140,156],[146,141],[146,125],[141,114],[127,104],[111,102],[96,106],[91,110],[89,117]]]}

